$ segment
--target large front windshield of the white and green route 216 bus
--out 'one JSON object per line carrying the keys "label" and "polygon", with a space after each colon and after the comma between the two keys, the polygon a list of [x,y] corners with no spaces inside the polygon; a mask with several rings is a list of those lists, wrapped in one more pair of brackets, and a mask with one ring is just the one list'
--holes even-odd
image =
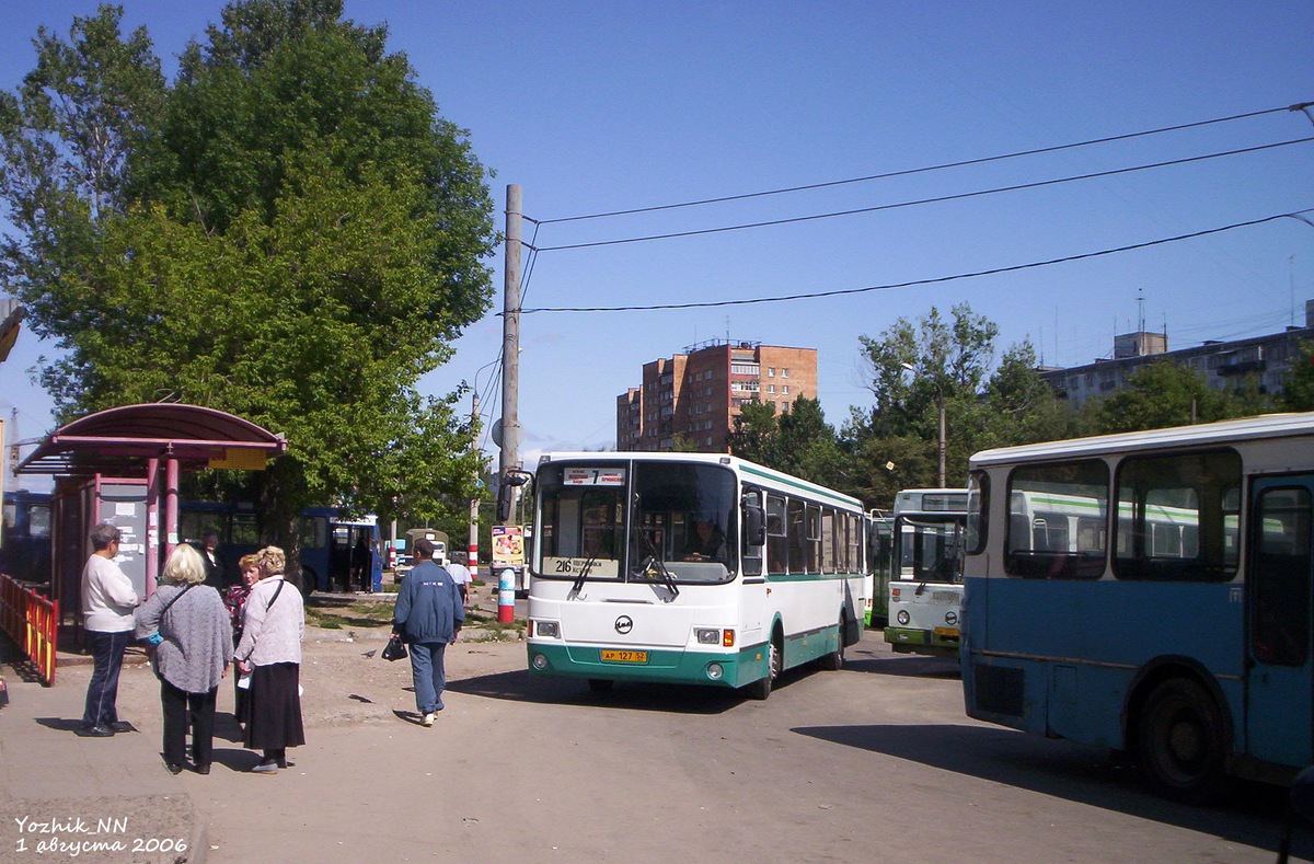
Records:
{"label": "large front windshield of the white and green route 216 bus", "polygon": [[738,570],[735,475],[723,466],[549,464],[537,490],[539,576],[719,583]]}

